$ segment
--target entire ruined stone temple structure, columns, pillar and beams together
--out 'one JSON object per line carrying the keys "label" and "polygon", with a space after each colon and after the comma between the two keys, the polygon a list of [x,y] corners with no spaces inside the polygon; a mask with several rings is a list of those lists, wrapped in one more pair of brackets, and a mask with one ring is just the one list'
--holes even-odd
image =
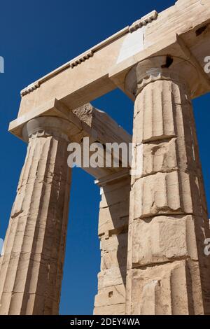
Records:
{"label": "entire ruined stone temple structure, columns, pillar and beams together", "polygon": [[[9,130],[28,148],[0,258],[0,314],[59,312],[67,146],[84,137],[132,141],[134,160],[140,155],[131,175],[84,168],[102,195],[94,314],[210,314],[209,219],[191,103],[210,92],[209,5],[179,0],[154,10],[22,90]],[[90,104],[116,87],[134,101],[132,137]]]}

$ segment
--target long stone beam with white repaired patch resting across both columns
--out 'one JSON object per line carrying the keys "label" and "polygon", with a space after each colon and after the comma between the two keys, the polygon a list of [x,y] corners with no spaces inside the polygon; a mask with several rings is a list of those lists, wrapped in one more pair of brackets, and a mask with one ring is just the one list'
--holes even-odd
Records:
{"label": "long stone beam with white repaired patch resting across both columns", "polygon": [[[142,60],[157,55],[172,55],[183,60],[176,34],[183,38],[197,64],[204,69],[209,55],[210,7],[208,1],[186,0],[185,6],[174,5],[158,18],[130,32],[126,27],[106,41],[64,64],[23,90],[19,116],[41,106],[52,98],[59,99],[69,109],[76,109],[92,99],[120,87],[123,92],[127,71]],[[207,73],[205,73],[207,74]],[[207,74],[210,77],[210,73]],[[204,75],[194,97],[210,91]],[[36,99],[36,102],[35,102]]]}

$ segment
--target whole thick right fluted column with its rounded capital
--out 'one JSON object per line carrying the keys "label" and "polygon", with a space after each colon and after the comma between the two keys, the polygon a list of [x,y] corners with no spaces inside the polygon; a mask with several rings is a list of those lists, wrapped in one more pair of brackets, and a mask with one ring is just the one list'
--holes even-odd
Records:
{"label": "whole thick right fluted column with its rounded capital", "polygon": [[191,96],[194,67],[153,57],[128,73],[135,95],[127,314],[209,314],[209,237]]}

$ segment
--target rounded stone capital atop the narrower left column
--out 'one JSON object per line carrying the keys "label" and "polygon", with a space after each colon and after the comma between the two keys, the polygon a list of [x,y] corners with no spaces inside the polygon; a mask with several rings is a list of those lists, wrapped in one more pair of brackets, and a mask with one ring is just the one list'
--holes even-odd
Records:
{"label": "rounded stone capital atop the narrower left column", "polygon": [[25,141],[33,137],[59,137],[69,141],[72,123],[55,116],[40,116],[29,120],[22,129]]}

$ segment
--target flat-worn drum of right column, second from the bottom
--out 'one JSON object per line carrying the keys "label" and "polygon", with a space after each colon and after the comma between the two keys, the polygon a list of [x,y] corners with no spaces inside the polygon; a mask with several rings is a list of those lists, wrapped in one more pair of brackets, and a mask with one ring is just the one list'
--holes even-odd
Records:
{"label": "flat-worn drum of right column, second from the bottom", "polygon": [[[133,224],[133,267],[172,260],[198,260],[193,216],[158,216]],[[200,235],[199,243],[203,244]]]}

